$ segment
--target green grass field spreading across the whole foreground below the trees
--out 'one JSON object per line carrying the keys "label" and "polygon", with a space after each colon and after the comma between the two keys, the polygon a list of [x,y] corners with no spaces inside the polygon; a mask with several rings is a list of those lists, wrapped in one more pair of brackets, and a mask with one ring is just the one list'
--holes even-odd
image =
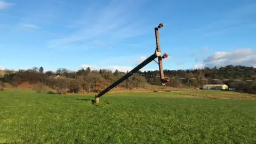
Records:
{"label": "green grass field spreading across the whole foreground below the trees", "polygon": [[6,90],[0,143],[256,143],[256,101],[230,100],[243,98],[255,96],[126,92],[104,95],[95,106],[86,100],[92,95]]}

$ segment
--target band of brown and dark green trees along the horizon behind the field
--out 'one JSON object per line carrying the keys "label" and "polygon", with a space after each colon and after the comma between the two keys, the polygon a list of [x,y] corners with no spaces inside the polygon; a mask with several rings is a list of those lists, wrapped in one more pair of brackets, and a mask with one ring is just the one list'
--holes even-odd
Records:
{"label": "band of brown and dark green trees along the horizon behind the field", "polygon": [[[128,71],[127,71],[128,73]],[[66,78],[55,79],[62,75]],[[0,81],[19,86],[24,82],[42,83],[52,89],[69,89],[71,92],[100,92],[125,73],[106,69],[91,70],[90,67],[77,71],[59,68],[56,71],[44,71],[43,67],[18,70],[2,76]],[[256,93],[256,69],[246,66],[214,67],[187,70],[164,70],[165,77],[171,81],[165,86],[202,87],[205,84],[226,84],[236,91]],[[160,85],[159,71],[138,71],[117,87],[125,89],[146,88],[147,85]]]}

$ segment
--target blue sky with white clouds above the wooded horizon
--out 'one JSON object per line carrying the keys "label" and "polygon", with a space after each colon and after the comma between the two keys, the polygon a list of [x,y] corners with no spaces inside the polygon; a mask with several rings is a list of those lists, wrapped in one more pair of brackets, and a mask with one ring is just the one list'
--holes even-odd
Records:
{"label": "blue sky with white clouds above the wooded horizon", "polygon": [[165,69],[256,67],[256,1],[0,0],[0,68],[131,70],[159,22]]}

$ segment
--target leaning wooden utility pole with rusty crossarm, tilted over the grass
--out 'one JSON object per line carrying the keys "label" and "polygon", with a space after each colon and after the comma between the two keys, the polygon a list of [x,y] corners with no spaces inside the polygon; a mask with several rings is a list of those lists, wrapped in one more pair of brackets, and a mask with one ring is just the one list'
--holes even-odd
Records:
{"label": "leaning wooden utility pole with rusty crossarm, tilted over the grass", "polygon": [[162,64],[162,59],[167,58],[168,55],[166,53],[164,53],[163,56],[161,57],[161,49],[160,49],[160,45],[159,45],[158,29],[162,28],[162,27],[163,27],[163,23],[160,23],[159,26],[155,28],[155,36],[156,36],[156,51],[155,51],[155,53],[153,53],[145,61],[141,62],[137,67],[133,68],[129,73],[127,73],[126,75],[124,75],[123,77],[118,79],[115,83],[111,84],[105,90],[101,91],[98,95],[95,95],[95,103],[100,102],[100,97],[103,94],[107,93],[108,91],[113,89],[115,86],[117,86],[118,84],[125,81],[125,79],[132,76],[134,73],[136,73],[138,70],[140,70],[141,68],[148,65],[149,62],[155,60],[156,58],[158,58],[158,66],[159,66],[159,70],[160,70],[160,74],[161,74],[160,75],[161,76],[161,84],[164,85],[166,82],[170,81],[170,79],[164,78],[164,71],[163,71],[163,64]]}

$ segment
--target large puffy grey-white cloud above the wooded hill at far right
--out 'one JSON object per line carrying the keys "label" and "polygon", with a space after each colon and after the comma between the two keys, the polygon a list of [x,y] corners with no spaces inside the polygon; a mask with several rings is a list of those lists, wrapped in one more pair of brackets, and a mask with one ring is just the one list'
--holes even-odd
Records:
{"label": "large puffy grey-white cloud above the wooded hill at far right", "polygon": [[232,52],[215,52],[203,60],[206,67],[221,67],[227,65],[255,66],[255,49],[237,49]]}

